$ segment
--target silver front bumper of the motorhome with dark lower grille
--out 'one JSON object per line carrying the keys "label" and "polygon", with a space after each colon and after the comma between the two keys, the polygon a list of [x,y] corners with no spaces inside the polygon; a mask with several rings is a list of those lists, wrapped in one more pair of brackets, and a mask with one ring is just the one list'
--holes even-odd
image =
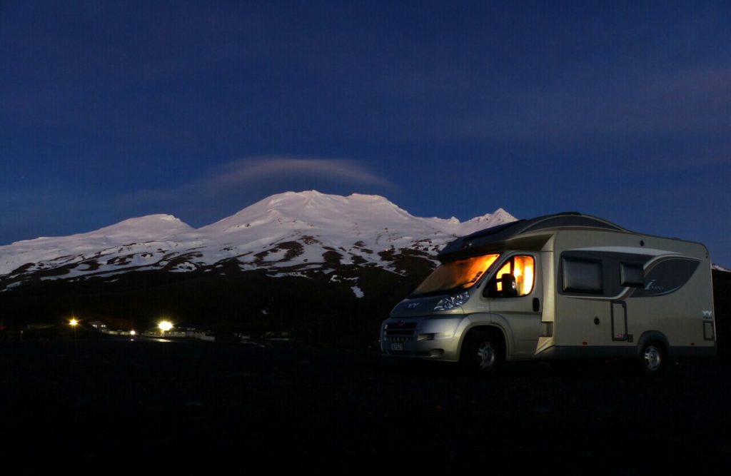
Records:
{"label": "silver front bumper of the motorhome with dark lower grille", "polygon": [[381,325],[381,351],[397,357],[456,362],[463,316],[390,318]]}

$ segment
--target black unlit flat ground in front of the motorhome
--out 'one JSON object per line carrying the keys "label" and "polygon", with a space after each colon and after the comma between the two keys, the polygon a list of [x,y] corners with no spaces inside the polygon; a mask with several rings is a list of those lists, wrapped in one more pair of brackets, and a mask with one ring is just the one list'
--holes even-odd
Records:
{"label": "black unlit flat ground in front of the motorhome", "polygon": [[[727,474],[731,368],[496,378],[376,353],[0,342],[0,473]],[[258,473],[257,473],[258,474]]]}

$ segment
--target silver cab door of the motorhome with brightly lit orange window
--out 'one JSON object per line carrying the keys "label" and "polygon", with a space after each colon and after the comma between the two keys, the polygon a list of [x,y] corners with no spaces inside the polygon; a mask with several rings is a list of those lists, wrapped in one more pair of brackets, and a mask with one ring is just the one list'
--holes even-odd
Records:
{"label": "silver cab door of the motorhome with brightly lit orange window", "polygon": [[482,292],[493,320],[509,333],[512,357],[534,355],[541,336],[543,287],[538,263],[534,254],[512,254]]}

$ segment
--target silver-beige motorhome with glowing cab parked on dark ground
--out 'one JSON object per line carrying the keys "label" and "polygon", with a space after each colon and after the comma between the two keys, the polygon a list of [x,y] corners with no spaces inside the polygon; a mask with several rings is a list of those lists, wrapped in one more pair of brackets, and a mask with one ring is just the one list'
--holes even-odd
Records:
{"label": "silver-beige motorhome with glowing cab parked on dark ground", "polygon": [[458,238],[381,326],[385,355],[462,362],[670,358],[716,352],[711,260],[700,243],[568,212]]}

